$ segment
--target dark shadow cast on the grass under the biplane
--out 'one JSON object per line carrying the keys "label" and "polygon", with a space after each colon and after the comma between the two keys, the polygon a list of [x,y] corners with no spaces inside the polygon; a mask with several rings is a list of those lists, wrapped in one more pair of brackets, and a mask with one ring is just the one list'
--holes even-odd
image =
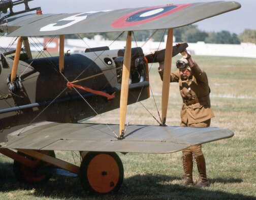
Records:
{"label": "dark shadow cast on the grass under the biplane", "polygon": [[[0,163],[0,192],[27,190],[23,198],[65,198],[65,199],[256,199],[254,196],[232,194],[210,189],[181,186],[181,178],[166,175],[136,175],[125,178],[116,194],[89,195],[83,191],[79,178],[54,175],[46,184],[25,185],[17,183],[12,164]],[[178,184],[171,183],[177,181]],[[239,183],[240,179],[211,179],[211,182]],[[210,186],[211,187],[211,186]]]}

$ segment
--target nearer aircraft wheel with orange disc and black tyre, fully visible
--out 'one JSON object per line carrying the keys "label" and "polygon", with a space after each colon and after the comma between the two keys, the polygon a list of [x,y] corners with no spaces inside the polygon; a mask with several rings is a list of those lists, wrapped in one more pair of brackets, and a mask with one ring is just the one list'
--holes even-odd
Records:
{"label": "nearer aircraft wheel with orange disc and black tyre, fully visible", "polygon": [[80,181],[90,193],[115,193],[123,182],[123,165],[114,152],[89,152],[80,166]]}

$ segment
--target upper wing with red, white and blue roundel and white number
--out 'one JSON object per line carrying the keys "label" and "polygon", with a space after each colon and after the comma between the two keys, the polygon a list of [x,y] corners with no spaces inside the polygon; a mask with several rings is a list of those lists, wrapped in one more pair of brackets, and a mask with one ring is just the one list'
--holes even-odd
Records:
{"label": "upper wing with red, white and blue roundel and white number", "polygon": [[176,28],[239,9],[237,2],[177,4],[76,14],[21,14],[1,25],[9,36],[68,35]]}

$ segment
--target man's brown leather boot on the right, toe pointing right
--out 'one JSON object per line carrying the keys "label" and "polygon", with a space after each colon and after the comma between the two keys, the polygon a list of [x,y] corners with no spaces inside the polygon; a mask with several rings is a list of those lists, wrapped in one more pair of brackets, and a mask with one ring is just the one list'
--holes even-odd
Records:
{"label": "man's brown leather boot on the right, toe pointing right", "polygon": [[195,157],[196,162],[197,162],[197,167],[198,167],[198,172],[199,172],[199,180],[195,187],[206,187],[209,186],[210,183],[206,177],[206,164],[205,164],[205,158],[204,155],[200,155]]}

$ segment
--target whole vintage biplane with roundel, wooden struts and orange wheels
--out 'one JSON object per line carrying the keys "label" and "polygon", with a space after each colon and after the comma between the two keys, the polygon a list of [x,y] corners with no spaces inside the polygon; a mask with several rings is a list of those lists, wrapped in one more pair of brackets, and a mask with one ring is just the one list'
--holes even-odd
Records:
{"label": "whole vintage biplane with roundel, wooden struts and orange wheels", "polygon": [[[40,7],[30,9],[29,1],[0,2],[0,32],[17,43],[15,50],[1,51],[0,153],[14,159],[18,181],[46,182],[52,169],[62,169],[79,176],[85,190],[117,192],[124,175],[117,152],[172,153],[234,135],[216,127],[167,126],[166,116],[172,57],[187,48],[173,46],[173,29],[239,9],[239,3],[42,14]],[[18,4],[24,11],[13,11]],[[133,31],[148,29],[168,30],[166,49],[145,55],[141,47],[132,48]],[[127,33],[125,48],[64,52],[65,35],[114,31]],[[58,36],[59,55],[33,57],[29,39],[39,36]],[[150,96],[148,63],[163,61],[161,122],[125,126],[127,105]],[[117,108],[119,124],[80,123]],[[79,151],[81,165],[56,158],[55,150]]]}

